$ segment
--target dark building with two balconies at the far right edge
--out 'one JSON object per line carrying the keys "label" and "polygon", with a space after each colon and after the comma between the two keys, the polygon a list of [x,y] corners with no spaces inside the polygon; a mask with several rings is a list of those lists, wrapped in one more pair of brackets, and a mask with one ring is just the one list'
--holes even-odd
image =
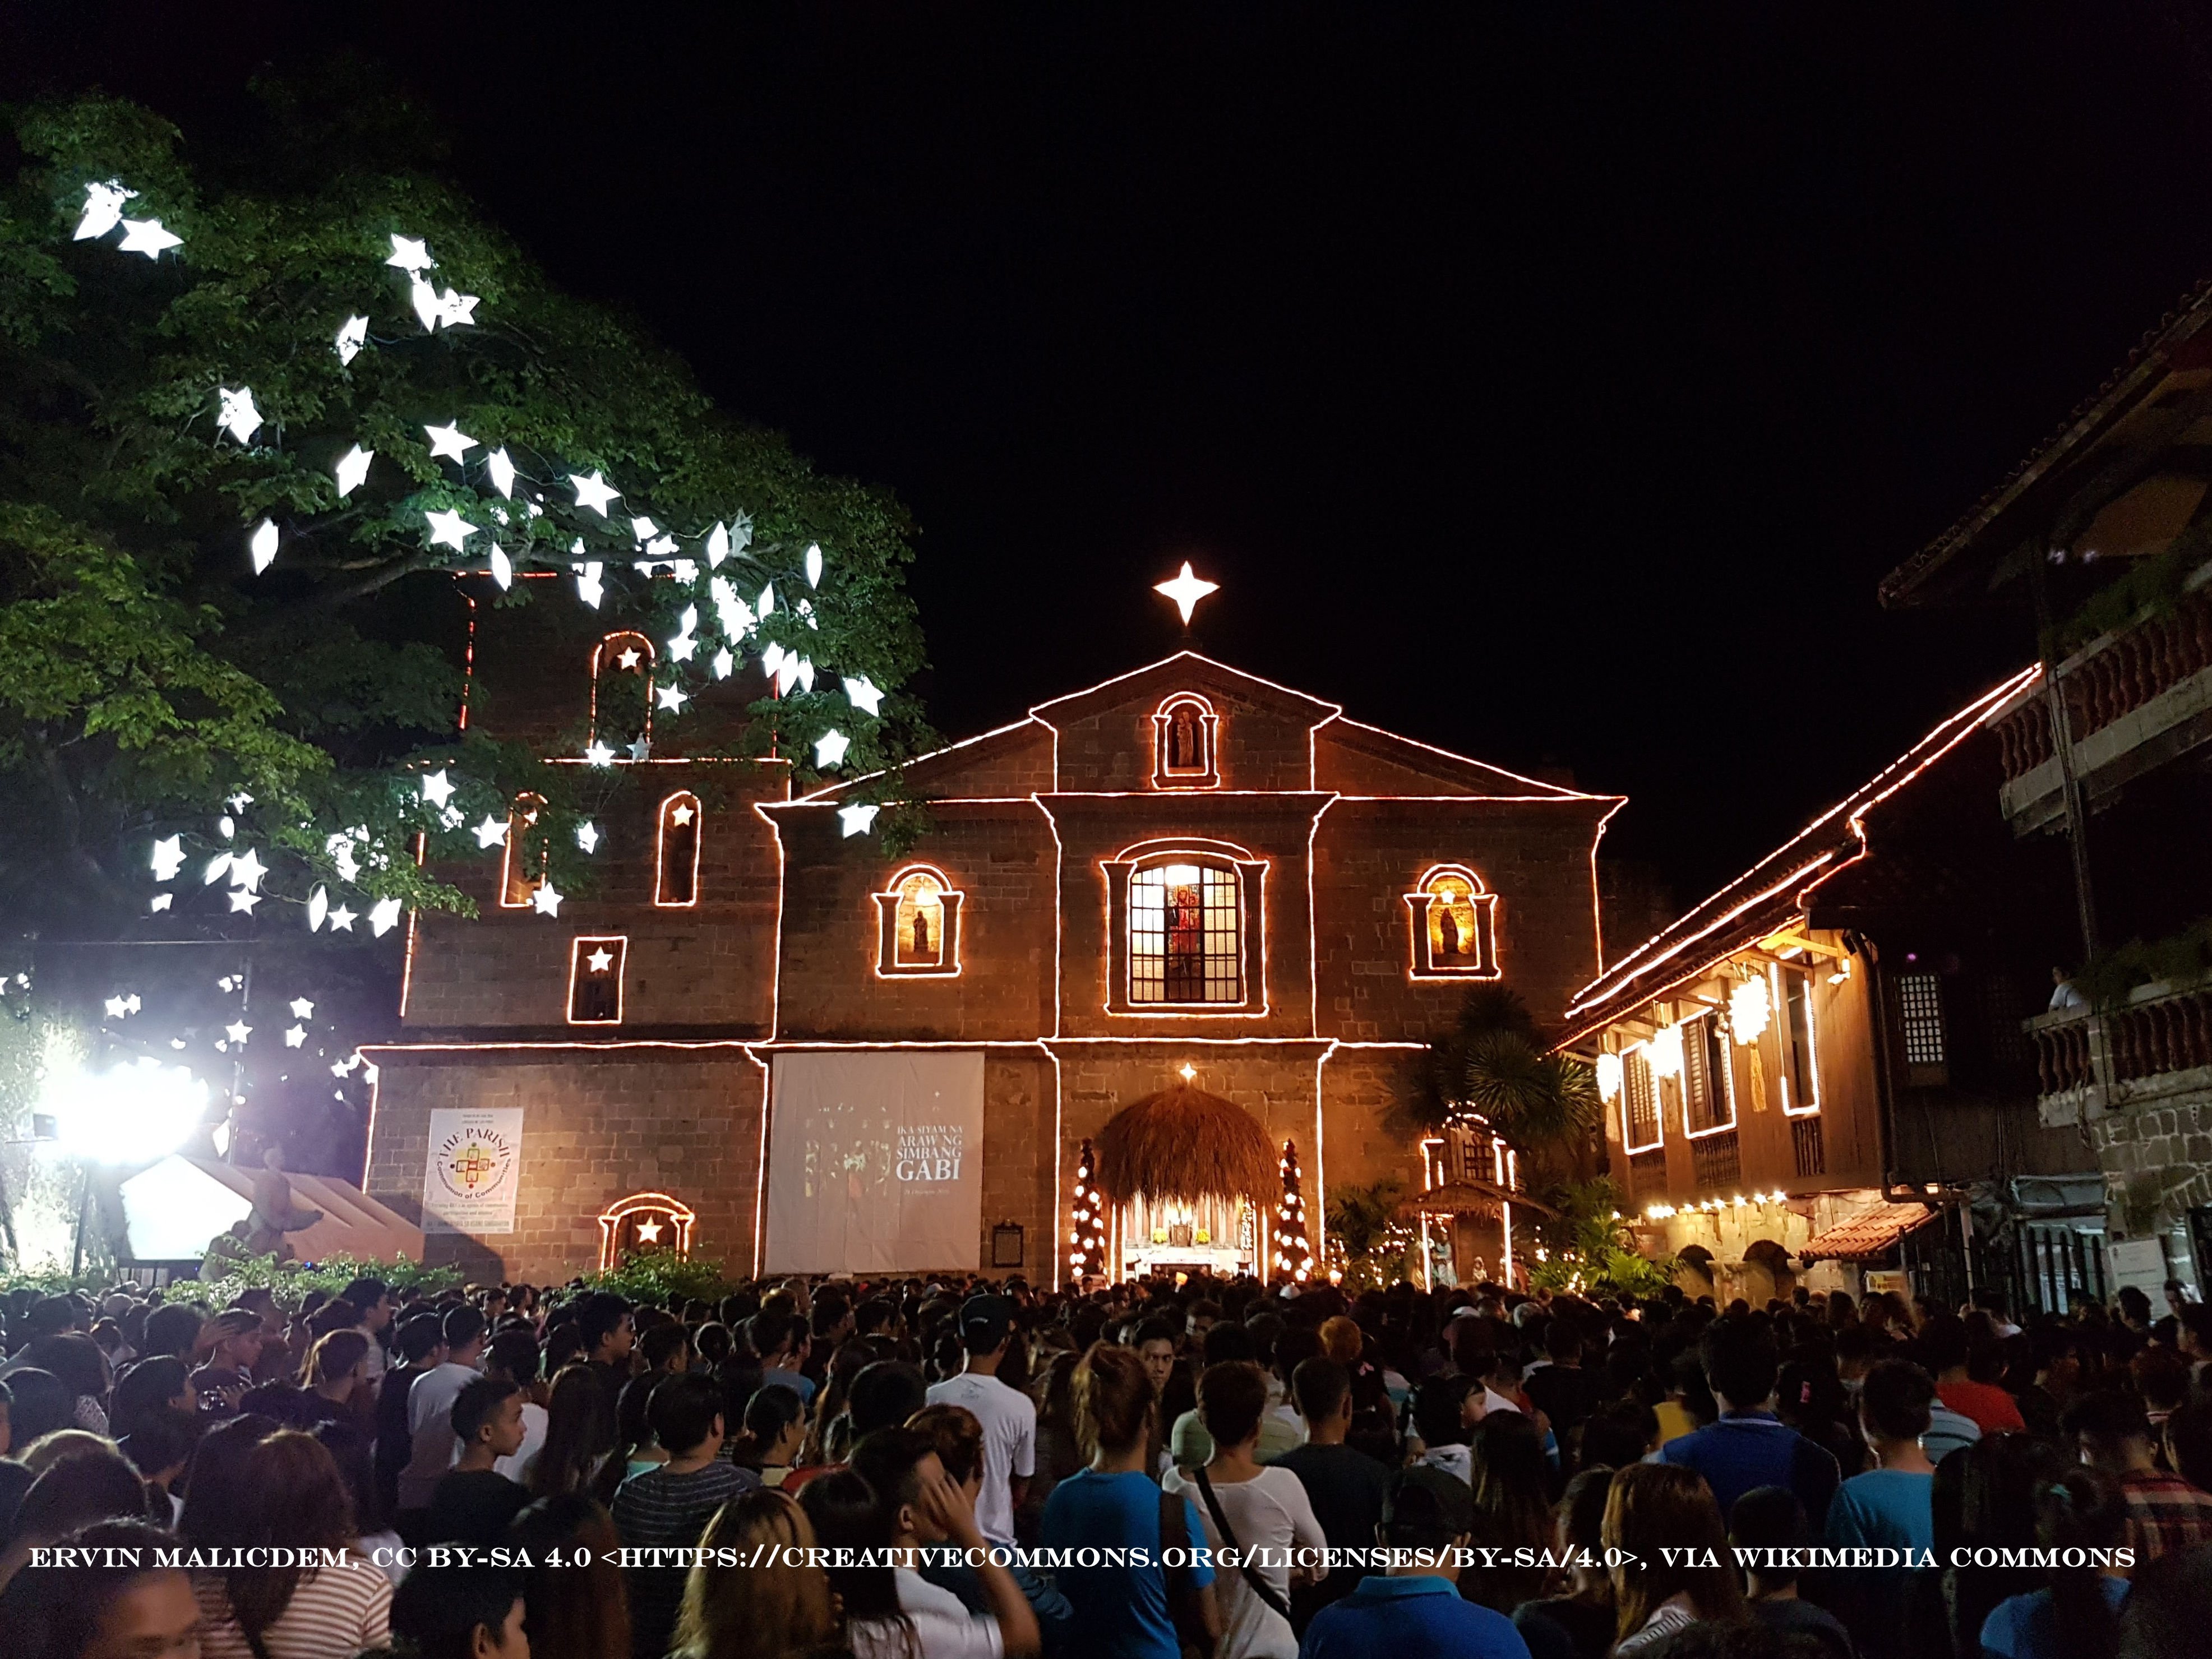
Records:
{"label": "dark building with two balconies at the far right edge", "polygon": [[1991,816],[2066,858],[2073,987],[2028,1022],[2042,1121],[2101,1172],[2117,1274],[2212,1274],[2212,285],[1882,582],[2004,608],[2048,679],[1993,710]]}

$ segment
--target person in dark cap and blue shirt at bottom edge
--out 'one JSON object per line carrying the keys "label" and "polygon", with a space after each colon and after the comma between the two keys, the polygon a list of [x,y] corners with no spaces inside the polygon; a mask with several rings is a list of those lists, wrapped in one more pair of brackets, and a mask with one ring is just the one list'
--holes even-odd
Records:
{"label": "person in dark cap and blue shirt at bottom edge", "polygon": [[1391,1475],[1376,1544],[1405,1551],[1369,1573],[1305,1628],[1298,1659],[1528,1659],[1528,1644],[1502,1613],[1460,1597],[1447,1551],[1475,1531],[1475,1495],[1442,1469]]}

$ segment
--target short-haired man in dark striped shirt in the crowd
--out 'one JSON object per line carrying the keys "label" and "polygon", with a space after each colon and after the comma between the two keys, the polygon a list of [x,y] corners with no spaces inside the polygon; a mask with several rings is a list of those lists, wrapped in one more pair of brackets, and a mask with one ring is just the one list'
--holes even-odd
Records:
{"label": "short-haired man in dark striped shirt in the crowd", "polygon": [[[688,1546],[732,1498],[759,1489],[761,1478],[721,1458],[721,1387],[708,1376],[670,1371],[646,1400],[646,1427],[668,1462],[630,1475],[615,1491],[615,1531],[628,1548]],[[637,1566],[630,1582],[630,1650],[668,1652],[684,1573]]]}

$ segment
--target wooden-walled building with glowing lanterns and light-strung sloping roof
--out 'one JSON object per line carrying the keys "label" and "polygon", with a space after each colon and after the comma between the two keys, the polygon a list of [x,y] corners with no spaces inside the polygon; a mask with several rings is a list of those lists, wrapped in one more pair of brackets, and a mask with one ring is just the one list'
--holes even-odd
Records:
{"label": "wooden-walled building with glowing lanterns and light-strung sloping roof", "polygon": [[2104,1212],[2066,1179],[2090,1159],[2037,1119],[2022,1029],[2066,945],[2066,860],[1989,810],[2037,684],[1953,712],[1568,1002],[1632,1225],[1688,1290],[2101,1290]]}

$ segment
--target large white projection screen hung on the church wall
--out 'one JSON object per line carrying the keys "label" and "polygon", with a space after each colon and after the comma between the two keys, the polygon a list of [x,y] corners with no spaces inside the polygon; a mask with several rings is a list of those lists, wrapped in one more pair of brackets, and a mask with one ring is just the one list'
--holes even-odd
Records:
{"label": "large white projection screen hung on the church wall", "polygon": [[774,1057],[765,1272],[973,1272],[982,1053]]}

